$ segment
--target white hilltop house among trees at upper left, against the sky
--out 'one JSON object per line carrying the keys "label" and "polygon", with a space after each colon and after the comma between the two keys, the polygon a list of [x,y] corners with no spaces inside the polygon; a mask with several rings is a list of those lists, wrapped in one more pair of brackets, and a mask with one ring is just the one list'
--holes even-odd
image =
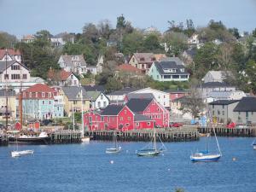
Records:
{"label": "white hilltop house among trees at upper left, against the sky", "polygon": [[75,35],[73,33],[61,32],[52,38],[50,38],[51,43],[55,47],[63,46],[67,42],[74,43]]}

